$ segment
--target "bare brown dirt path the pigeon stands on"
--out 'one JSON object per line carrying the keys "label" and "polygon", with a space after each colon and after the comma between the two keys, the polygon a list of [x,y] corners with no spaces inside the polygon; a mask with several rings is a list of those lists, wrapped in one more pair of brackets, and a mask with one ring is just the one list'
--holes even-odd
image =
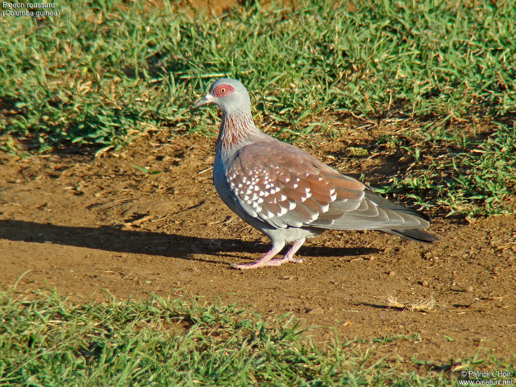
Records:
{"label": "bare brown dirt path the pigeon stands on", "polygon": [[[349,136],[357,131],[350,131]],[[314,136],[298,146],[368,182],[403,174],[393,155],[352,158],[357,139]],[[74,298],[205,296],[266,318],[292,312],[319,342],[407,335],[395,356],[449,362],[478,350],[513,360],[516,221],[434,215],[426,246],[380,232],[327,232],[302,264],[238,271],[269,246],[234,216],[212,184],[214,138],[154,133],[94,159],[0,153],[0,284],[57,288]],[[145,173],[137,167],[148,168]],[[159,171],[159,173],[152,173]],[[400,199],[400,198],[398,198]],[[430,311],[389,307],[433,298]],[[453,340],[453,341],[452,341]]]}

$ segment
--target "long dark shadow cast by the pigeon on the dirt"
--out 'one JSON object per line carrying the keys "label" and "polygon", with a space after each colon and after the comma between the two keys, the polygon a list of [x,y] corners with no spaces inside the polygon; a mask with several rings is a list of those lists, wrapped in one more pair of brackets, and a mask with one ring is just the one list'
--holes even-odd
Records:
{"label": "long dark shadow cast by the pigeon on the dirt", "polygon": [[[235,253],[265,252],[270,245],[240,239],[200,238],[153,231],[122,230],[113,225],[72,227],[23,220],[0,220],[0,238],[31,243],[85,247],[119,253],[176,257],[189,261],[223,263],[209,256],[235,256]],[[328,248],[304,246],[306,256],[356,256],[378,252],[375,248]]]}

